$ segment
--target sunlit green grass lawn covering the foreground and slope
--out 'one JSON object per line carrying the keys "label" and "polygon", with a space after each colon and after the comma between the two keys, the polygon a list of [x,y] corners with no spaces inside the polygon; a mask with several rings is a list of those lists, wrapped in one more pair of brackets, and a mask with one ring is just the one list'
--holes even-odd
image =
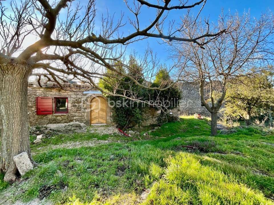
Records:
{"label": "sunlit green grass lawn covering the foreground and slope", "polygon": [[[38,168],[12,186],[0,175],[0,194],[16,190],[13,200],[40,197],[57,204],[77,204],[76,198],[90,204],[274,204],[274,135],[236,129],[212,137],[207,120],[183,117],[162,125],[150,140],[49,150],[33,155]],[[81,136],[56,136],[54,143]]]}

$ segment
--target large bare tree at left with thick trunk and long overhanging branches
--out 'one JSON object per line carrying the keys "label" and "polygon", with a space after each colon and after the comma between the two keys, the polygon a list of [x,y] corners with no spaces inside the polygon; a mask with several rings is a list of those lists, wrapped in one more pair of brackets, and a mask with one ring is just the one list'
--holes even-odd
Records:
{"label": "large bare tree at left with thick trunk and long overhanging branches", "polygon": [[[180,9],[184,10],[188,19],[190,9],[196,6],[204,7],[206,0],[194,3],[178,0],[178,5],[170,5],[170,0],[159,1],[158,5],[150,4],[144,0],[134,0],[131,3],[125,1],[127,7],[135,19],[129,17],[129,24],[133,30],[129,35],[124,35],[124,14],[118,20],[111,15],[102,16],[101,28],[96,22],[96,2],[88,1],[87,5],[81,5],[72,0],[60,0],[49,2],[48,0],[37,1],[11,1],[9,7],[4,6],[5,1],[0,1],[0,126],[1,126],[1,166],[5,172],[5,181],[15,180],[17,168],[13,162],[13,156],[23,151],[31,158],[29,147],[29,126],[27,114],[27,81],[28,77],[35,75],[38,83],[42,77],[58,83],[61,88],[62,82],[67,79],[79,79],[86,81],[101,90],[96,84],[96,79],[104,79],[108,76],[102,72],[107,68],[117,73],[118,76],[127,76],[137,85],[149,89],[164,90],[166,88],[150,87],[150,84],[140,84],[134,76],[117,69],[123,66],[127,69],[127,63],[123,60],[123,54],[128,44],[138,42],[145,38],[153,37],[166,41],[193,42],[200,47],[205,42],[200,39],[210,39],[224,32],[220,30],[214,34],[205,32],[195,38],[176,36],[185,27],[195,25],[193,22],[181,23],[176,26],[175,21],[170,20],[169,28],[164,29],[168,12]],[[142,9],[150,9],[156,14],[155,19],[147,24],[140,22],[139,16]],[[61,13],[61,10],[64,10]],[[80,12],[81,11],[81,12]],[[84,14],[82,11],[85,11]],[[198,12],[198,15],[200,12]],[[32,42],[24,43],[31,35]],[[36,40],[35,40],[36,39]],[[142,62],[143,73],[148,79],[156,73],[156,61],[148,50]],[[151,56],[150,58],[148,58]],[[115,93],[107,93],[117,95]],[[132,96],[123,96],[133,100]]]}

